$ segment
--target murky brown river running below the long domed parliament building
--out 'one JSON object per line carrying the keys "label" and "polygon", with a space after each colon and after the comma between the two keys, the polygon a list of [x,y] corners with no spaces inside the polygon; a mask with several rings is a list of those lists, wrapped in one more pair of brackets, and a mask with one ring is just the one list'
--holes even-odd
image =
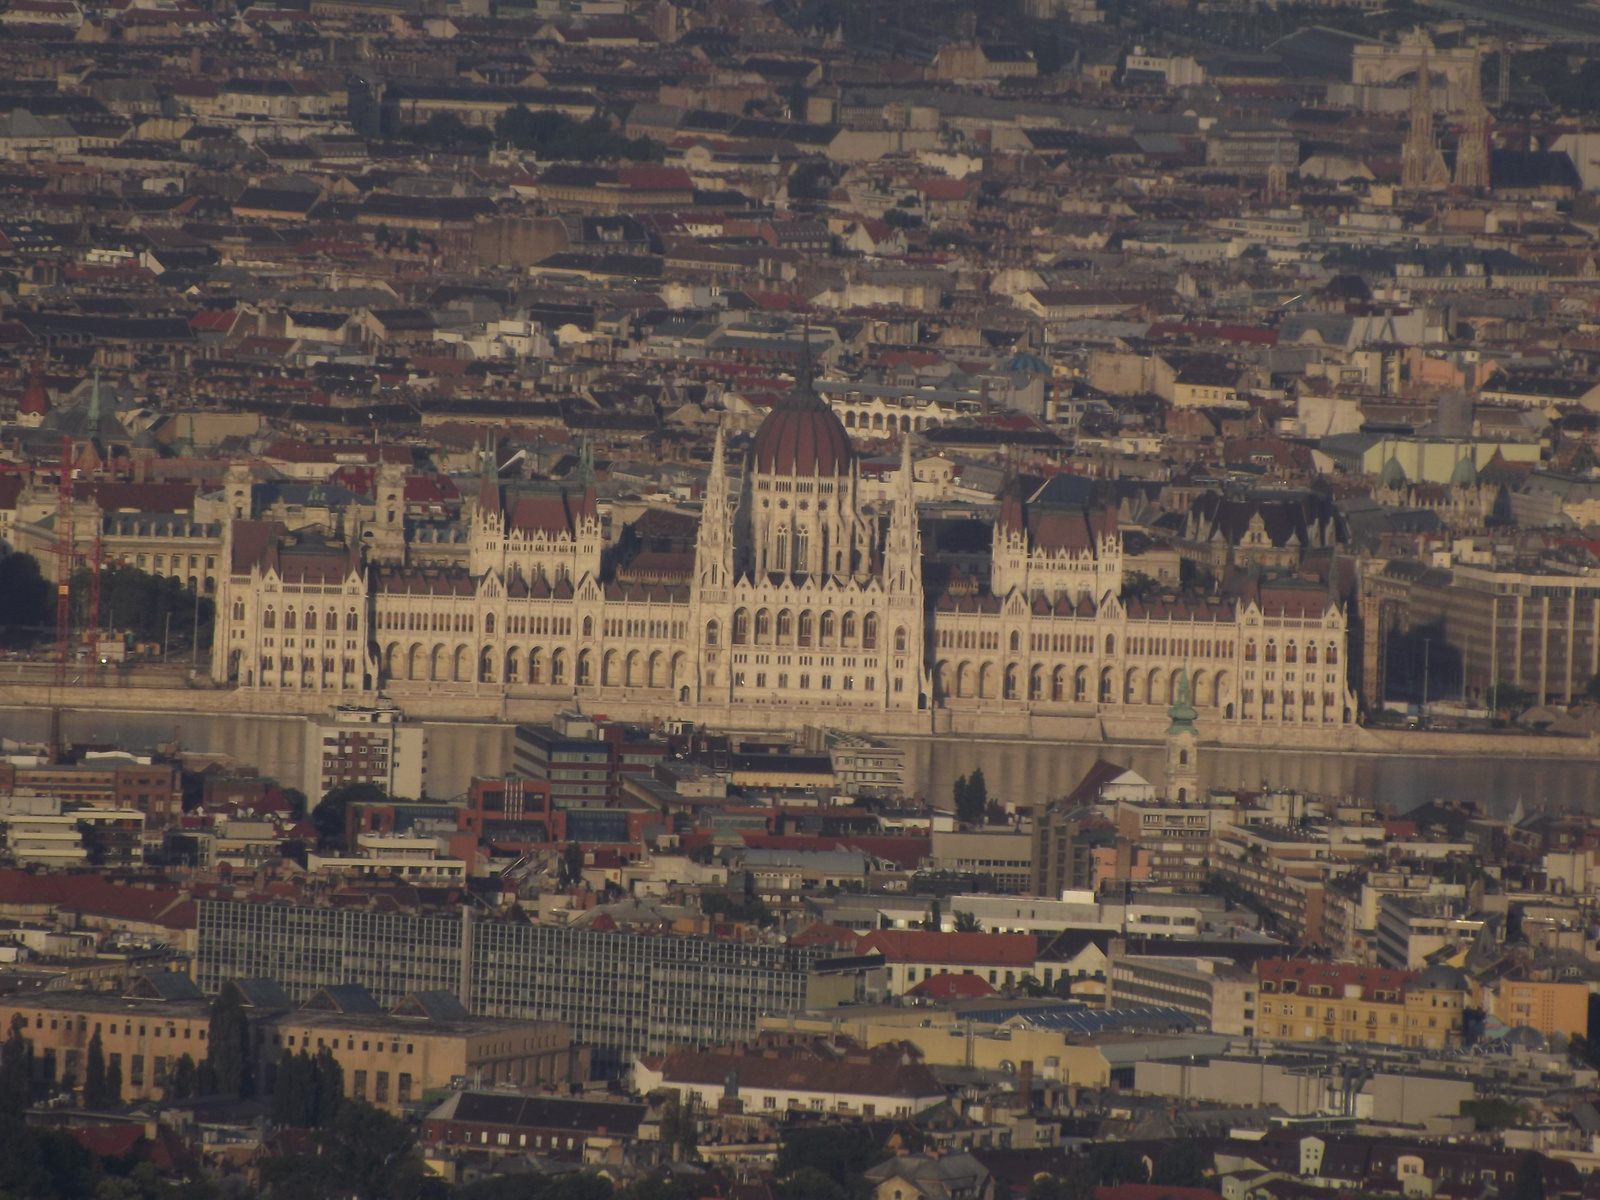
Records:
{"label": "murky brown river running below the long domed parliament building", "polygon": [[[485,722],[426,722],[429,794],[459,795],[474,774],[510,768],[512,726]],[[149,749],[179,742],[187,750],[227,755],[285,784],[301,786],[306,722],[301,717],[195,715],[170,712],[96,712],[64,709],[62,736],[75,744]],[[0,709],[0,738],[43,741],[43,709]],[[914,792],[947,805],[950,781],[982,768],[989,794],[1037,803],[1064,795],[1098,757],[1158,781],[1163,750],[1146,744],[1003,741],[987,738],[902,738],[907,782]],[[1496,814],[1523,802],[1568,805],[1600,813],[1600,762],[1493,758],[1333,750],[1256,750],[1208,747],[1200,752],[1202,782],[1213,787],[1294,787],[1320,795],[1349,795],[1406,811],[1426,800],[1475,800]]]}

